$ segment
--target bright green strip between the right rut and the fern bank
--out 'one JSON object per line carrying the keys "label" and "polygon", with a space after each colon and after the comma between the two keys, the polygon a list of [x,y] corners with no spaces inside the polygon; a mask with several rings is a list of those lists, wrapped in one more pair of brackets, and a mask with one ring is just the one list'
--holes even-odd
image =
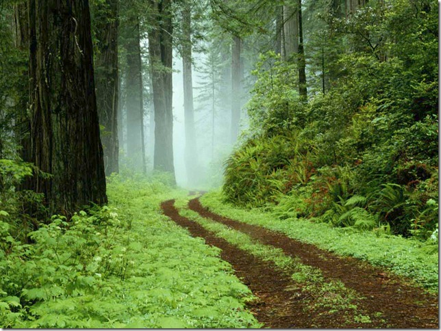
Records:
{"label": "bright green strip between the right rut and the fern bank", "polygon": [[407,276],[432,293],[438,293],[438,250],[416,239],[383,235],[354,228],[333,228],[329,224],[288,218],[280,220],[275,213],[260,209],[240,209],[223,202],[220,191],[201,197],[210,210],[240,222],[277,230],[288,237],[312,243],[342,256],[354,256],[373,265],[386,267],[395,274]]}

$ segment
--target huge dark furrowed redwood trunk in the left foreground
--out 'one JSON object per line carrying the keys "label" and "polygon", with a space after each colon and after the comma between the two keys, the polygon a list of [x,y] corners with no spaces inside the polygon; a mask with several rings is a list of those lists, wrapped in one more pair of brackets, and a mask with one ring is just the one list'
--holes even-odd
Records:
{"label": "huge dark furrowed redwood trunk in the left foreground", "polygon": [[87,0],[29,0],[31,142],[50,213],[104,204]]}

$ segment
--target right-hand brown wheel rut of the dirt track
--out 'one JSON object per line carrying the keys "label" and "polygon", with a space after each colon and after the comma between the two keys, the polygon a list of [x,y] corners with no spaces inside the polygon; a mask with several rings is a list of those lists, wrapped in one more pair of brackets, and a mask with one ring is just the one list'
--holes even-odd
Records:
{"label": "right-hand brown wheel rut of the dirt track", "polygon": [[438,328],[438,296],[406,284],[403,278],[357,259],[336,256],[282,233],[217,215],[203,207],[198,198],[190,200],[188,207],[264,244],[281,248],[289,256],[298,256],[304,264],[320,268],[325,278],[341,280],[346,287],[366,297],[364,307],[383,314],[388,328]]}

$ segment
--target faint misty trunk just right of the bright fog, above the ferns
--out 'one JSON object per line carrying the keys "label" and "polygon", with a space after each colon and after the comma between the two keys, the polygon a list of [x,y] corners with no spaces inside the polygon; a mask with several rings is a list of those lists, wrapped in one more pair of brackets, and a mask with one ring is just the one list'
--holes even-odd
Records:
{"label": "faint misty trunk just right of the bright fog, above the ferns", "polygon": [[231,46],[231,144],[236,142],[239,133],[240,94],[242,93],[241,44],[242,40],[234,36]]}

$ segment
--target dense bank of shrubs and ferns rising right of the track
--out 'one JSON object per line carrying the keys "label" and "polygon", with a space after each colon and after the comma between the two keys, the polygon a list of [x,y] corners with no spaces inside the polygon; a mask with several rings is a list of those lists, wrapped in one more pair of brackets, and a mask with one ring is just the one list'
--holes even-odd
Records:
{"label": "dense bank of shrubs and ferns rising right of the track", "polygon": [[224,200],[282,219],[437,237],[437,5],[369,1],[343,19],[315,12],[322,48],[310,38],[306,61],[325,68],[312,69],[307,103],[299,64],[262,55],[250,129],[225,162]]}

